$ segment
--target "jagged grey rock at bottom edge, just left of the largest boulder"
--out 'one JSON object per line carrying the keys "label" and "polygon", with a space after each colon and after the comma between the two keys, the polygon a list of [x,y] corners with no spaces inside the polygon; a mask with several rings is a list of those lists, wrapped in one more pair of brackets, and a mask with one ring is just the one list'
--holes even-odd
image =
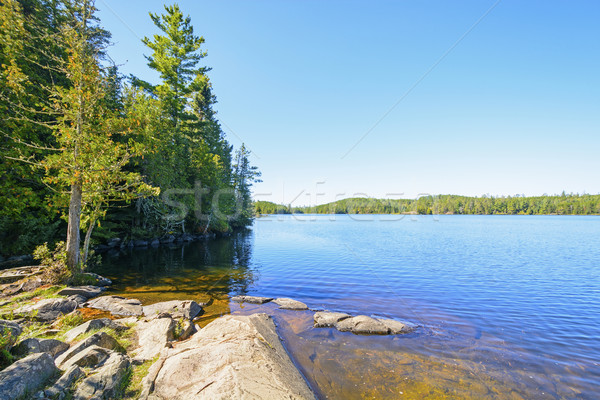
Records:
{"label": "jagged grey rock at bottom edge, just left of the largest boulder", "polygon": [[77,385],[73,400],[114,399],[129,365],[127,356],[113,352],[93,375]]}

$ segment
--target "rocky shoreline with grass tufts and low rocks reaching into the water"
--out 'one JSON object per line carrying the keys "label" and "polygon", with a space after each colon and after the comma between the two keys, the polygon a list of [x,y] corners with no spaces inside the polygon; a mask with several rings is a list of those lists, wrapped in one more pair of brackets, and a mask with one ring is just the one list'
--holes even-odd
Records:
{"label": "rocky shoreline with grass tufts and low rocks reaching into the water", "polygon": [[[143,305],[103,295],[111,282],[90,277],[94,285],[46,287],[36,285],[39,278],[33,271],[0,285],[0,344],[6,357],[16,359],[0,370],[0,399],[110,399],[124,397],[127,390],[127,398],[155,400],[315,398],[271,316],[225,315],[200,328],[194,319],[206,304],[176,300]],[[26,284],[32,280],[36,284]],[[31,287],[36,292],[23,289]],[[230,300],[309,310],[289,298]],[[380,335],[417,328],[330,311],[314,312],[314,326]]]}

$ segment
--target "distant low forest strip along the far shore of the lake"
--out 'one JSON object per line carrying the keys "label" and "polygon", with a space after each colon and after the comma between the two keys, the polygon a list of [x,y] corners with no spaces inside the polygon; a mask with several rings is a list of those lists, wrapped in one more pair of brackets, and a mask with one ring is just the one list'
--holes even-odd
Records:
{"label": "distant low forest strip along the far shore of the lake", "polygon": [[260,214],[477,214],[597,215],[600,195],[565,194],[535,197],[424,196],[418,199],[351,198],[313,207],[290,207],[268,201],[254,203]]}

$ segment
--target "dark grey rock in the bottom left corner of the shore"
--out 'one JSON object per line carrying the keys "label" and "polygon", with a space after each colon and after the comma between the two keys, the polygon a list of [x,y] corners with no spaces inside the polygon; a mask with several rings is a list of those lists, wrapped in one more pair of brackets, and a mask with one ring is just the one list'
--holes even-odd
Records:
{"label": "dark grey rock in the bottom left corner of the shore", "polygon": [[24,398],[35,393],[55,372],[54,360],[48,353],[17,360],[0,371],[0,399]]}

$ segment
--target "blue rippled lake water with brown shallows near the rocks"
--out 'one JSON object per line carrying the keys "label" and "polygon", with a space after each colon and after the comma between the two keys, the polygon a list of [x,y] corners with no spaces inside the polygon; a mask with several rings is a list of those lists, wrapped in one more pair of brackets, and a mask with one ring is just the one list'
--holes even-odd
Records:
{"label": "blue rippled lake water with brown shallows near the rocks", "polygon": [[[600,396],[600,217],[269,216],[231,238],[105,255],[114,293],[268,311],[322,398]],[[407,320],[403,336],[312,327],[312,309]]]}

